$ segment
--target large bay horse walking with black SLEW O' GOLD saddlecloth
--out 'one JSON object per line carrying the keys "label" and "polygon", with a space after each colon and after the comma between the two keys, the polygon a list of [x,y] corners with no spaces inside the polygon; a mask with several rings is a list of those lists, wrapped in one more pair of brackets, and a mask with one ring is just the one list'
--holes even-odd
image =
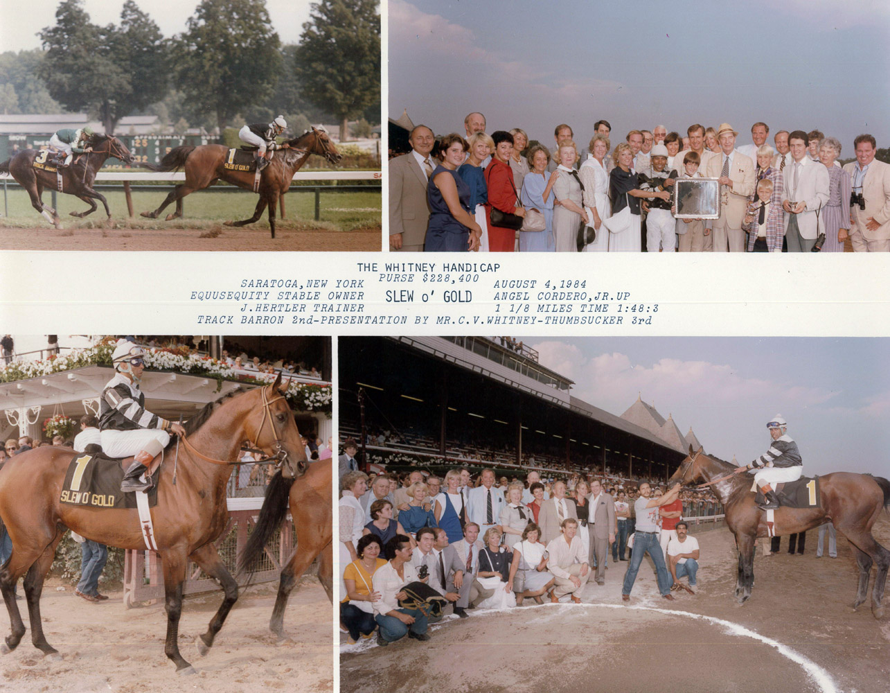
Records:
{"label": "large bay horse walking with black SLEW O' GOLD saddlecloth", "polygon": [[[277,455],[289,473],[305,473],[306,454],[284,397],[286,388],[287,382],[281,382],[279,373],[270,386],[208,404],[185,424],[186,437],[175,453],[175,464],[171,450],[175,443],[167,446],[167,461],[162,464],[158,479],[158,504],[151,515],[164,574],[164,651],[176,664],[178,673],[195,671],[182,658],[177,642],[187,560],[197,563],[225,591],[207,632],[196,640],[199,651],[204,653],[213,645],[216,633],[238,599],[238,583],[223,565],[214,541],[223,534],[229,517],[225,491],[241,444],[252,441],[266,454]],[[97,510],[59,501],[70,461],[69,449],[47,445],[16,455],[0,469],[0,516],[12,537],[12,556],[0,568],[0,590],[11,625],[11,632],[0,647],[3,653],[15,649],[25,632],[12,593],[16,581],[25,575],[31,641],[44,655],[61,658],[44,637],[40,592],[66,528],[109,546],[145,549],[136,510]]]}

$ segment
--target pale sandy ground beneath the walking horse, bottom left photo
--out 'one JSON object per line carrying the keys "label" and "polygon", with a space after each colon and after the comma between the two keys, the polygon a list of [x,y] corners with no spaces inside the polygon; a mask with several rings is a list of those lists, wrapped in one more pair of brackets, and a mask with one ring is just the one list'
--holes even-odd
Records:
{"label": "pale sandy ground beneath the walking horse, bottom left photo", "polygon": [[[195,690],[214,693],[300,691],[327,693],[333,686],[331,604],[318,579],[306,576],[291,592],[285,627],[293,640],[277,643],[267,625],[277,583],[250,587],[242,595],[206,657],[194,640],[205,632],[222,592],[186,599],[179,645],[198,670],[181,676],[164,654],[166,614],[163,604],[125,609],[120,592],[91,604],[73,588],[56,591],[47,584],[41,602],[46,639],[63,661],[44,659],[31,645],[30,630],[11,654],[0,657],[0,690],[15,693],[154,693]],[[19,586],[21,592],[21,585]],[[25,610],[24,599],[18,602]],[[5,637],[6,610],[0,616]]]}

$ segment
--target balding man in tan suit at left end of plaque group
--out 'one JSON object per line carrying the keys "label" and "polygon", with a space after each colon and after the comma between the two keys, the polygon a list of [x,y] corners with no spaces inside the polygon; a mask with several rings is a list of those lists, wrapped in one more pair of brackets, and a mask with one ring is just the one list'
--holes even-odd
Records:
{"label": "balding man in tan suit at left end of plaque group", "polygon": [[390,249],[421,252],[430,220],[426,183],[440,162],[430,156],[436,138],[429,127],[416,126],[409,142],[411,151],[389,162]]}

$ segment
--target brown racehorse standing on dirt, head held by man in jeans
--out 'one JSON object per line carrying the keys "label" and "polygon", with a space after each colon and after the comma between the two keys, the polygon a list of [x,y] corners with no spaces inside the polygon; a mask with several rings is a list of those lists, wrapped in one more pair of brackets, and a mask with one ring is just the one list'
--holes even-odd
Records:
{"label": "brown racehorse standing on dirt, head held by man in jeans", "polygon": [[[702,449],[689,454],[674,476],[667,482],[692,485],[711,485],[726,512],[726,525],[735,534],[739,549],[739,575],[735,596],[744,604],[754,586],[754,546],[758,537],[768,536],[766,512],[757,508],[755,493],[751,491],[752,479],[740,474],[738,467],[708,457]],[[853,544],[856,563],[859,565],[859,590],[853,604],[860,607],[868,596],[869,574],[872,563],[878,566],[878,575],[871,591],[871,613],[875,618],[884,616],[881,599],[884,597],[887,568],[890,567],[890,550],[886,550],[871,534],[882,508],[890,506],[890,481],[883,477],[852,472],[834,472],[819,477],[821,507],[798,509],[781,507],[775,511],[775,534],[805,532],[815,526],[833,522]]]}

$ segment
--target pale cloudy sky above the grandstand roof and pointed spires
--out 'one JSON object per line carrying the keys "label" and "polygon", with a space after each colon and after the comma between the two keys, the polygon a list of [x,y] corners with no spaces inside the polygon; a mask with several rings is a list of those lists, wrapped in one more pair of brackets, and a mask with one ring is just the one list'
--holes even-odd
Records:
{"label": "pale cloudy sky above the grandstand roof and pointed spires", "polygon": [[766,452],[781,414],[805,474],[890,477],[890,339],[517,338],[572,395],[615,415],[642,396],[724,460]]}

